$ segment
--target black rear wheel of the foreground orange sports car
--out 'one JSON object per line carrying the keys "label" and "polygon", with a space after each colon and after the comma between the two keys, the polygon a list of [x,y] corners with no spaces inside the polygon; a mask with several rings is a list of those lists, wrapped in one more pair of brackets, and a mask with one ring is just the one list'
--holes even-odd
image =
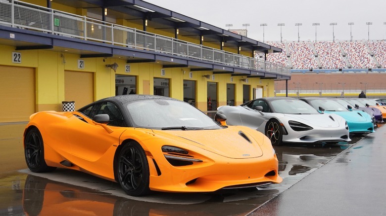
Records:
{"label": "black rear wheel of the foreground orange sports car", "polygon": [[51,172],[56,167],[49,167],[44,160],[43,138],[38,128],[28,130],[24,139],[24,156],[28,169],[34,173]]}

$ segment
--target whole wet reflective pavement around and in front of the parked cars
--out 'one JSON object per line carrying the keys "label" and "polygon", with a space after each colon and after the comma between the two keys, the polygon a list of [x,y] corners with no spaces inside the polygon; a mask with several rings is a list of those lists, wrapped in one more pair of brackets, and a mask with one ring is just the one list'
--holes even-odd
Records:
{"label": "whole wet reflective pavement around and in front of the parked cars", "polygon": [[[17,145],[1,157],[0,216],[291,216],[386,215],[386,127],[338,145],[276,146],[280,184],[253,190],[127,196],[115,182],[57,169],[32,173],[20,149],[20,129],[1,144]],[[15,131],[15,132],[14,132]],[[15,134],[15,135],[14,135]]]}

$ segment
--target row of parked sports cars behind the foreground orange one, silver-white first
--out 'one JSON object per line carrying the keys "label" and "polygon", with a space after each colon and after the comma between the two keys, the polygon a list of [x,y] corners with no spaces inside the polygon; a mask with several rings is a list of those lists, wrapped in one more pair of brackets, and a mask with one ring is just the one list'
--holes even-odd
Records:
{"label": "row of parked sports cars behind the foreground orange one, silver-white first", "polygon": [[386,118],[386,106],[366,98],[259,98],[222,106],[227,125],[264,133],[273,145],[349,142],[350,133],[372,133]]}

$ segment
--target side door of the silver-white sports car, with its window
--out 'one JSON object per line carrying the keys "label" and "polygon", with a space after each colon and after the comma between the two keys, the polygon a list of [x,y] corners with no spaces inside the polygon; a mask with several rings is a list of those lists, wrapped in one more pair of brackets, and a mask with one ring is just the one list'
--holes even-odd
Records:
{"label": "side door of the silver-white sports car, with its window", "polygon": [[[265,104],[265,105],[264,105]],[[257,129],[265,121],[265,116],[261,112],[255,110],[257,106],[267,106],[265,101],[254,100],[250,103],[243,106],[243,109],[240,111],[240,118],[243,126],[250,127],[252,129]]]}

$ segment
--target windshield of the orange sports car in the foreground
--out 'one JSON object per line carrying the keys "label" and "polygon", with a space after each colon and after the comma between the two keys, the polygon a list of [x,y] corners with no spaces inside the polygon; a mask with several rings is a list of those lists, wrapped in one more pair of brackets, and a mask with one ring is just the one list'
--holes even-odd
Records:
{"label": "windshield of the orange sports car in the foreground", "polygon": [[182,101],[168,99],[140,100],[129,103],[126,108],[136,127],[159,130],[222,128],[209,116]]}

